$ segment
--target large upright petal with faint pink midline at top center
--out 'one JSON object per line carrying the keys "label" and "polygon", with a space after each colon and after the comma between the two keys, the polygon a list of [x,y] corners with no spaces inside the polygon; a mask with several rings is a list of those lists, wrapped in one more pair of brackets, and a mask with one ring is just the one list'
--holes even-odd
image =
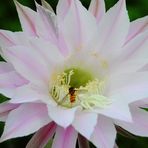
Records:
{"label": "large upright petal with faint pink midline at top center", "polygon": [[72,51],[87,46],[97,32],[94,16],[82,6],[79,0],[71,1],[69,11],[59,27],[68,48]]}

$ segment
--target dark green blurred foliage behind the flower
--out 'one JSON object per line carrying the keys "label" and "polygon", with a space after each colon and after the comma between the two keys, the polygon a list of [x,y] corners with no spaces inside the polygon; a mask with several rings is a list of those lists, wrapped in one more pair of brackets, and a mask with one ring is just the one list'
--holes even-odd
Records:
{"label": "dark green blurred foliage behind the flower", "polygon": [[[31,7],[35,10],[34,0],[18,0],[20,3]],[[113,6],[118,0],[105,0],[106,9],[108,10]],[[37,0],[40,3],[40,0]],[[56,10],[56,5],[58,0],[47,0],[51,6]],[[88,8],[90,0],[81,0],[83,5]],[[127,9],[129,13],[130,20],[133,21],[137,18],[148,15],[148,0],[126,0]],[[0,0],[0,28],[11,30],[11,31],[20,31],[21,26],[18,20],[17,12],[13,0]],[[1,59],[2,60],[2,59]],[[7,100],[4,96],[0,95],[0,102]],[[0,124],[0,134],[3,131],[4,123]],[[25,145],[29,141],[31,136],[23,138],[15,138],[3,142],[0,144],[1,148],[25,148]],[[148,147],[148,138],[136,137],[135,139],[125,138],[121,135],[117,136],[117,144],[119,148],[147,148]],[[50,147],[51,141],[49,141],[48,146]],[[46,148],[47,148],[46,147]],[[94,146],[91,144],[91,147]]]}

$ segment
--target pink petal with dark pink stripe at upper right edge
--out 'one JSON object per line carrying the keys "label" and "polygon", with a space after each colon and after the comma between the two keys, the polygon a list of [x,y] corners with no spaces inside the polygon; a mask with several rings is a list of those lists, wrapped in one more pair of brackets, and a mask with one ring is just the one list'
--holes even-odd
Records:
{"label": "pink petal with dark pink stripe at upper right edge", "polygon": [[148,29],[148,16],[137,19],[130,24],[129,34],[127,36],[125,44],[135,38],[138,34]]}

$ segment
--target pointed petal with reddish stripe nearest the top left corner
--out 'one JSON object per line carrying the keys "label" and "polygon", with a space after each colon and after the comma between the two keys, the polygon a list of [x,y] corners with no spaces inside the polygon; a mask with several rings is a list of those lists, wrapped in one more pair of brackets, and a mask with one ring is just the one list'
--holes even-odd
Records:
{"label": "pointed petal with reddish stripe nearest the top left corner", "polygon": [[28,35],[36,36],[37,34],[36,34],[36,28],[34,24],[37,18],[36,12],[34,12],[28,7],[21,5],[16,0],[14,2],[16,5],[16,9],[19,15],[19,19],[20,19],[23,31]]}

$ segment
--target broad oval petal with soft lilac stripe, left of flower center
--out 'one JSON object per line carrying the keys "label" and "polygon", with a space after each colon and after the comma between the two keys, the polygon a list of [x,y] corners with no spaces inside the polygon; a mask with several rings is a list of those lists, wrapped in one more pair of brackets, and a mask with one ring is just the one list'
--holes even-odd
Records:
{"label": "broad oval petal with soft lilac stripe, left of flower center", "polygon": [[37,50],[25,46],[13,46],[4,51],[18,73],[29,81],[48,83],[48,63]]}

